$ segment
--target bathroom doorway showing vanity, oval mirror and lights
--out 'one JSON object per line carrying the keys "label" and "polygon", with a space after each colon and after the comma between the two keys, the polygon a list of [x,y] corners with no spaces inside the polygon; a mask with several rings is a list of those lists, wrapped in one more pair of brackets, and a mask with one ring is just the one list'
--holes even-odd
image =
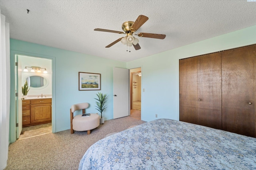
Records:
{"label": "bathroom doorway showing vanity, oval mirror and lights", "polygon": [[[52,103],[49,102],[49,100],[52,98],[52,60],[26,55],[16,55],[16,58],[16,61],[18,61],[18,71],[16,72],[16,88],[19,92],[16,99],[16,104],[18,105],[18,109],[16,109],[16,121],[19,124],[16,129],[16,138],[24,139],[51,133]],[[39,80],[40,82],[37,83],[36,80]],[[27,98],[24,98],[23,94],[21,93],[21,87],[24,86],[26,81],[29,84],[29,91]],[[44,106],[35,104],[35,100],[38,99],[47,100],[47,102],[43,101],[47,104],[44,103]],[[34,101],[34,105],[32,105],[32,100]],[[26,103],[24,101],[30,101],[30,104],[26,104],[26,106],[29,106],[28,109],[24,109],[23,104]],[[49,112],[46,113],[46,117],[44,114],[40,114],[40,116],[42,115],[42,118],[39,119],[39,117],[36,117],[36,114],[32,113],[33,110],[37,115],[40,114],[40,111],[45,113],[45,111],[48,110]]]}

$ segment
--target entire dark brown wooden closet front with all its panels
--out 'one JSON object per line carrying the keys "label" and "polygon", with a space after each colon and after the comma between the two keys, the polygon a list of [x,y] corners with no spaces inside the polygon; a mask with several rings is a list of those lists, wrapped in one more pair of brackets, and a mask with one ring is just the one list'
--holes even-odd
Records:
{"label": "entire dark brown wooden closet front with all its panels", "polygon": [[256,137],[256,45],[180,60],[180,121]]}

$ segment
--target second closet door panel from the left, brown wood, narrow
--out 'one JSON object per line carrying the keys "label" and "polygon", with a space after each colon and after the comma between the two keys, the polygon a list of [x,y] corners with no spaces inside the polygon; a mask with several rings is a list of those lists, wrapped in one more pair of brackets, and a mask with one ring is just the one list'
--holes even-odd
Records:
{"label": "second closet door panel from the left, brown wood, narrow", "polygon": [[221,53],[198,56],[198,124],[222,129]]}

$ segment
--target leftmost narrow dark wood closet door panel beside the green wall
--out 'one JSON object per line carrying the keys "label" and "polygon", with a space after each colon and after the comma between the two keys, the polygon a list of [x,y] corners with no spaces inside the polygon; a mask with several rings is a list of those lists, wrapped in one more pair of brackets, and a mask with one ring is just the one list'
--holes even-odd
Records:
{"label": "leftmost narrow dark wood closet door panel beside the green wall", "polygon": [[197,58],[180,60],[180,121],[198,123]]}

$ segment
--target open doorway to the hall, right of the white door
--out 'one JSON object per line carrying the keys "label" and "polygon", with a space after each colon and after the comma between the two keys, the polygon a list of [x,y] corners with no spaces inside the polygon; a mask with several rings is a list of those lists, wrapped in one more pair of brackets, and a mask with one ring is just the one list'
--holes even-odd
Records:
{"label": "open doorway to the hall, right of the white door", "polygon": [[130,116],[141,119],[141,68],[130,69]]}

